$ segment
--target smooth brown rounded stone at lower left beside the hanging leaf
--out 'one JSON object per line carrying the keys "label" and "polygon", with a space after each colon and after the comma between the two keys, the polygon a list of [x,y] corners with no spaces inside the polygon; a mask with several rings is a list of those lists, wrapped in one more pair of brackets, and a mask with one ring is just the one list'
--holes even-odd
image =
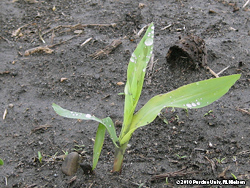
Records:
{"label": "smooth brown rounded stone at lower left beside the hanging leaf", "polygon": [[76,173],[79,166],[79,155],[77,152],[69,153],[62,163],[62,172],[67,176]]}

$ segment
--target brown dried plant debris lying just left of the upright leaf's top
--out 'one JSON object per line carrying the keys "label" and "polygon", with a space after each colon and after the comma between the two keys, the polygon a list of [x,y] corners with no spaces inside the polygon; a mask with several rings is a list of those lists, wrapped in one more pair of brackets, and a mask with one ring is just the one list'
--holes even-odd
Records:
{"label": "brown dried plant debris lying just left of the upright leaf's top", "polygon": [[103,58],[116,49],[121,43],[122,41],[119,39],[113,40],[111,44],[107,45],[103,49],[97,50],[95,53],[91,54],[90,57],[93,57],[94,59]]}

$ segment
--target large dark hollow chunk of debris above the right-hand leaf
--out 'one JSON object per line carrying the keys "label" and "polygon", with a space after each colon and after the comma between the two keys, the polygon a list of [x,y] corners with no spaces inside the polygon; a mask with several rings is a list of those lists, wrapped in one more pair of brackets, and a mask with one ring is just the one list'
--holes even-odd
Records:
{"label": "large dark hollow chunk of debris above the right-hand leaf", "polygon": [[167,53],[167,62],[172,65],[199,68],[207,64],[207,49],[203,39],[188,35],[170,47]]}

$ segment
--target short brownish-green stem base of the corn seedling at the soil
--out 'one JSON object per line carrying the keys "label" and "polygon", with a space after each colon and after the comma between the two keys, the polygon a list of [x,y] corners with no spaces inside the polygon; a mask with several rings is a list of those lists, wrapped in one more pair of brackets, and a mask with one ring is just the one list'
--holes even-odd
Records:
{"label": "short brownish-green stem base of the corn seedling at the soil", "polygon": [[112,172],[121,172],[122,170],[122,163],[124,158],[124,153],[127,148],[128,142],[121,145],[119,148],[115,148],[115,159],[114,159],[114,166]]}

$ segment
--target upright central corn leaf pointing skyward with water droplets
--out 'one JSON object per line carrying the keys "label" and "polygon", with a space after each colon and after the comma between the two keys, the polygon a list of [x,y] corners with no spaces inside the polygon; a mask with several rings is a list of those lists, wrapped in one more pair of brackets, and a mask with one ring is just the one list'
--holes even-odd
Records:
{"label": "upright central corn leaf pointing skyward with water droplets", "polygon": [[154,25],[151,23],[129,61],[127,82],[124,89],[124,120],[120,137],[123,137],[129,130],[137,102],[140,98],[147,64],[153,52],[153,39]]}

